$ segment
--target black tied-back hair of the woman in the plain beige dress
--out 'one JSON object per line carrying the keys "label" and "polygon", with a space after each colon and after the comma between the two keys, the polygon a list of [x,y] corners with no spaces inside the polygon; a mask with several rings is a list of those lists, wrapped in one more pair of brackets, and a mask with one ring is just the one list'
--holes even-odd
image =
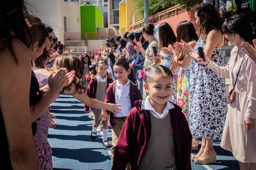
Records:
{"label": "black tied-back hair of the woman in the plain beige dress", "polygon": [[255,30],[249,19],[243,14],[233,15],[222,25],[225,34],[239,34],[246,42],[252,44],[255,39]]}

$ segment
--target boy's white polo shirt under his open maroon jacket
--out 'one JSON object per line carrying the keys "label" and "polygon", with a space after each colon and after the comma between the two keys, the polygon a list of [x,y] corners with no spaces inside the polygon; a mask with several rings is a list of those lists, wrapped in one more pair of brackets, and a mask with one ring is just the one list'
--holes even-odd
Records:
{"label": "boy's white polo shirt under his open maroon jacket", "polygon": [[131,106],[131,99],[130,99],[130,81],[128,80],[125,85],[121,85],[119,81],[116,81],[115,86],[115,104],[122,105],[118,113],[114,114],[114,117],[121,118],[126,117],[130,110],[132,109]]}

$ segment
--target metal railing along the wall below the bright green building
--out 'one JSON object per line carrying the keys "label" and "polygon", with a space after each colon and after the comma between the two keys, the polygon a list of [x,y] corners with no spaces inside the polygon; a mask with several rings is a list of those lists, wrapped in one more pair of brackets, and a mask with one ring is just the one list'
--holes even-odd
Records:
{"label": "metal railing along the wall below the bright green building", "polygon": [[82,32],[82,33],[64,33],[65,41],[75,41],[84,40],[85,35],[87,35],[88,40],[106,40],[109,38],[114,38],[118,35],[117,32]]}

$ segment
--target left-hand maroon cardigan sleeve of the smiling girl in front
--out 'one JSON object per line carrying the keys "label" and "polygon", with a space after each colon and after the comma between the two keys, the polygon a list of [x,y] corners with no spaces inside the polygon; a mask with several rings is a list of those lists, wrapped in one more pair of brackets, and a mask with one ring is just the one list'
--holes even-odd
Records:
{"label": "left-hand maroon cardigan sleeve of the smiling girl in front", "polygon": [[134,128],[131,112],[134,112],[135,110],[136,108],[133,108],[129,112],[119,135],[115,146],[112,170],[125,170],[127,163],[130,162],[134,143]]}

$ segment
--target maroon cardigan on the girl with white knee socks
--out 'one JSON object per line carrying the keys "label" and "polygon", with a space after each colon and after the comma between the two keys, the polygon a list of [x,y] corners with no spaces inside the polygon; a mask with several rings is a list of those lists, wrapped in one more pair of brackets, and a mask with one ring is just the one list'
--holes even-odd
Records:
{"label": "maroon cardigan on the girl with white knee socks", "polygon": [[[113,80],[111,78],[107,77],[107,88],[109,87],[109,84],[113,83]],[[97,90],[97,84],[98,84],[98,80],[97,77],[95,76],[93,79],[91,79],[91,81],[89,82],[87,89],[86,89],[86,95],[89,98],[95,99],[95,94],[96,94],[96,90]],[[84,105],[84,111],[85,112],[89,112],[89,107]]]}

